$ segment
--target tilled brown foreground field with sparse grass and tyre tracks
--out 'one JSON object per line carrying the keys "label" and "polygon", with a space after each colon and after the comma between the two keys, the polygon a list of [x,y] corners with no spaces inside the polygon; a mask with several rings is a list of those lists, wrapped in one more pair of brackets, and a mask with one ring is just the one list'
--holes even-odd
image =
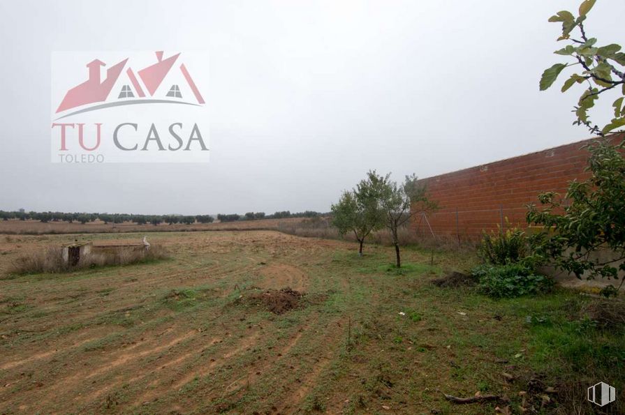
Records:
{"label": "tilled brown foreground field with sparse grass and tyre tracks", "polygon": [[[141,237],[0,236],[0,275],[45,246]],[[536,350],[525,316],[554,303],[434,286],[462,255],[406,249],[398,273],[390,248],[358,258],[351,243],[272,231],[150,241],[170,259],[0,280],[0,414],[494,413],[506,402],[442,393],[519,405]],[[286,287],[302,294],[294,308],[267,310]]]}

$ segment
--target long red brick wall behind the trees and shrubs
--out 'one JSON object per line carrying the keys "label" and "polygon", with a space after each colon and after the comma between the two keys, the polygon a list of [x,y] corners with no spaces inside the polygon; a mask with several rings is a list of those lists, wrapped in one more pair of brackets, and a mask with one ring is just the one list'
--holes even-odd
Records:
{"label": "long red brick wall behind the trees and shrubs", "polygon": [[[619,139],[622,137],[614,141]],[[427,221],[416,216],[413,228],[424,236],[433,232],[462,240],[479,237],[483,229],[497,229],[502,216],[504,225],[507,218],[512,225],[524,227],[524,205],[537,203],[539,193],[564,195],[568,182],[588,177],[584,172],[588,152],[581,149],[588,142],[591,140],[421,179],[439,209],[429,213]]]}

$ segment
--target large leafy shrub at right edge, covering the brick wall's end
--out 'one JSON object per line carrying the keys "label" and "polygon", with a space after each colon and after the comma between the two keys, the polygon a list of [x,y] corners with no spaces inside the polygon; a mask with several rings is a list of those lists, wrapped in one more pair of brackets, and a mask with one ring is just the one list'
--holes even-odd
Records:
{"label": "large leafy shrub at right edge, covering the brick wall's end", "polygon": [[[625,141],[615,146],[600,139],[584,148],[590,154],[587,172],[591,176],[571,181],[564,196],[553,192],[539,195],[541,208],[529,206],[527,222],[543,229],[532,236],[532,248],[577,278],[622,279]],[[598,260],[602,251],[611,253]]]}

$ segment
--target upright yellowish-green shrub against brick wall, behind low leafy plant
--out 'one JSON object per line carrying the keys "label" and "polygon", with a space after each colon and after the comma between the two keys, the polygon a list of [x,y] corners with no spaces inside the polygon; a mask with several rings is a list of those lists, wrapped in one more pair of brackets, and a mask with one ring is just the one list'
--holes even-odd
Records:
{"label": "upright yellowish-green shrub against brick wall, behind low leafy plant", "polygon": [[506,232],[483,233],[482,243],[478,248],[478,256],[486,264],[506,265],[522,261],[528,255],[527,237],[518,228]]}

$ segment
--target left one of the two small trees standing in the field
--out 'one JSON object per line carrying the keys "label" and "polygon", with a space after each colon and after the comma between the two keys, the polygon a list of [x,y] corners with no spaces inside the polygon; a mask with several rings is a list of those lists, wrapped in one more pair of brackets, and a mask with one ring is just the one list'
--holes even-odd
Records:
{"label": "left one of the two small trees standing in the field", "polygon": [[360,244],[358,255],[362,257],[362,245],[372,232],[383,227],[383,211],[378,206],[378,195],[369,179],[360,181],[355,190],[344,192],[337,204],[332,204],[332,225],[339,234],[353,232]]}

